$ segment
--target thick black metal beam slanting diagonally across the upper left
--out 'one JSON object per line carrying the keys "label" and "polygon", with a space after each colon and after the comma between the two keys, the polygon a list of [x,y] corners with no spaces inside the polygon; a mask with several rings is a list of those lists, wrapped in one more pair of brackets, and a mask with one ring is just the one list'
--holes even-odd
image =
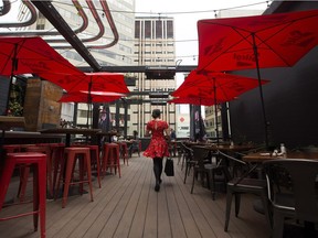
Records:
{"label": "thick black metal beam slanting diagonally across the upper left", "polygon": [[64,39],[74,47],[74,50],[87,62],[87,64],[91,66],[89,72],[100,72],[100,65],[81,42],[70,25],[61,17],[61,14],[56,11],[54,6],[50,1],[31,0],[31,2],[52,23],[52,25],[54,25],[54,28],[64,36]]}

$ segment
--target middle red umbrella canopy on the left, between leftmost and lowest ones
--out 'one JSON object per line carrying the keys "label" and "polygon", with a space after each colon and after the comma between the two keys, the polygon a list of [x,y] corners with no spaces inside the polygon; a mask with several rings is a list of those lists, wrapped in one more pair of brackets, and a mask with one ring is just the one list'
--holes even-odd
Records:
{"label": "middle red umbrella canopy on the left, between leftmost and lowest ones", "polygon": [[82,73],[82,74],[40,74],[42,78],[50,80],[67,93],[73,91],[114,91],[129,93],[123,74],[117,73]]}

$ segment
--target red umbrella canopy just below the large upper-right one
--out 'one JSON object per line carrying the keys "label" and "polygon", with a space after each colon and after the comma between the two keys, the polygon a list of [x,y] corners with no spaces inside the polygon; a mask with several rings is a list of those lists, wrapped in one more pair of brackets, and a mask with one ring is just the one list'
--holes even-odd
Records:
{"label": "red umbrella canopy just below the large upper-right one", "polygon": [[[266,84],[268,80],[263,79],[261,83]],[[180,87],[172,93],[172,96],[190,98],[189,104],[192,100],[191,98],[195,97],[199,101],[201,99],[206,104],[209,99],[210,101],[212,99],[215,100],[216,104],[220,104],[233,100],[241,94],[255,87],[258,87],[258,80],[254,78],[224,73],[192,71]],[[214,101],[211,102],[211,105],[213,104]],[[209,104],[206,106],[209,106]]]}

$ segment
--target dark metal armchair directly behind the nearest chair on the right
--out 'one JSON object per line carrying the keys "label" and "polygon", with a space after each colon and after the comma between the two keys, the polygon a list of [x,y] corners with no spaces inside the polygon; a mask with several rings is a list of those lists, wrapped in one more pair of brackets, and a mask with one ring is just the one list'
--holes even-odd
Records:
{"label": "dark metal armchair directly behind the nearest chair on the right", "polygon": [[[271,210],[268,208],[269,202],[267,197],[266,181],[261,178],[248,177],[248,175],[253,172],[248,163],[237,158],[230,156],[229,154],[225,154],[221,151],[219,153],[221,156],[227,160],[226,176],[229,182],[226,186],[226,212],[225,212],[224,231],[227,231],[229,228],[233,195],[235,198],[235,216],[236,217],[239,216],[241,194],[254,194],[261,197],[268,227],[272,229],[272,219],[271,219]],[[232,165],[230,166],[229,164]],[[240,171],[233,172],[233,167],[235,167],[234,170],[241,167],[241,173]]]}

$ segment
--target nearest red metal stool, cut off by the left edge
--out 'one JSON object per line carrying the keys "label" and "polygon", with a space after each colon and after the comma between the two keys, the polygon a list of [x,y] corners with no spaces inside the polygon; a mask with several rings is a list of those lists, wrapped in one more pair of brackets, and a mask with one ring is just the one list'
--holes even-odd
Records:
{"label": "nearest red metal stool, cut off by the left edge", "polygon": [[[33,215],[34,231],[38,230],[39,215],[41,237],[45,237],[45,206],[46,206],[46,155],[43,153],[18,152],[8,153],[4,170],[0,178],[0,212],[2,209],[6,194],[17,165],[33,166],[33,212],[12,215],[0,218],[0,221]],[[15,205],[15,204],[14,204]],[[21,205],[21,204],[20,204]]]}

